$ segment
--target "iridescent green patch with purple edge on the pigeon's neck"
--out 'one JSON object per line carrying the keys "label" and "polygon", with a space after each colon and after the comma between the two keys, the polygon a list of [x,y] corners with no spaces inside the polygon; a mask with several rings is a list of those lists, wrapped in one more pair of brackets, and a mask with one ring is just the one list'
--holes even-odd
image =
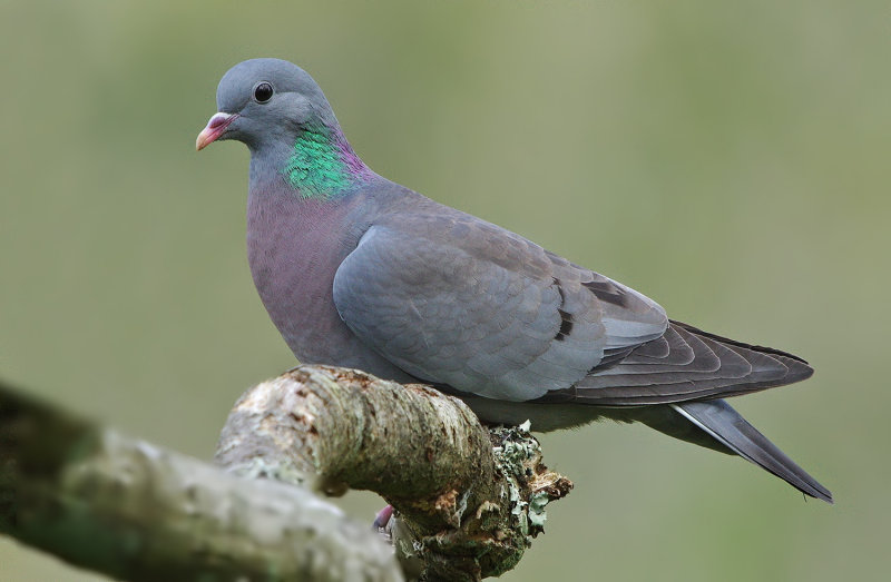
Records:
{"label": "iridescent green patch with purple edge on the pigeon's neck", "polygon": [[278,172],[302,198],[323,200],[344,196],[374,176],[340,127],[322,124],[301,128]]}

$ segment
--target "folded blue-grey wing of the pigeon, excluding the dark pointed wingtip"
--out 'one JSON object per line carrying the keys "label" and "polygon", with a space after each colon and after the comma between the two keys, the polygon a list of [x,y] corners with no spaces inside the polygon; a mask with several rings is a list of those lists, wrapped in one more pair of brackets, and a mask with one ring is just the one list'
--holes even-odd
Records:
{"label": "folded blue-grey wing of the pigeon, excluding the dark pointed wingtip", "polygon": [[667,327],[647,297],[461,213],[370,228],[334,303],[405,372],[508,401],[568,388]]}

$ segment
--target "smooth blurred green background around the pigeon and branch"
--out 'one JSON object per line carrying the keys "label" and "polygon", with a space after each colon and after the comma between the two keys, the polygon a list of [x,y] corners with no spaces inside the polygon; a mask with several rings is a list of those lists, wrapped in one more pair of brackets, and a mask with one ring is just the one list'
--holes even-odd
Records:
{"label": "smooth blurred green background around the pigeon and branch", "polygon": [[[208,458],[294,364],[247,151],[194,149],[219,77],[281,57],[380,174],[816,367],[735,405],[835,506],[645,427],[547,435],[576,490],[506,580],[888,575],[887,2],[0,0],[0,48],[3,378]],[[0,579],[98,580],[6,539]]]}

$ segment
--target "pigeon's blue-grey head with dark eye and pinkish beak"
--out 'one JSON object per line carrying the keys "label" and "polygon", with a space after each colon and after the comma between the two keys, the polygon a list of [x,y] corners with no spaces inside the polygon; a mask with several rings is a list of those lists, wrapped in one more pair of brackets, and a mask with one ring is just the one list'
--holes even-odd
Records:
{"label": "pigeon's blue-grey head with dark eye and pinkish beak", "polygon": [[195,141],[237,139],[252,151],[293,145],[306,126],[337,127],[322,89],[310,75],[281,59],[252,59],[229,69],[216,90],[217,112]]}

